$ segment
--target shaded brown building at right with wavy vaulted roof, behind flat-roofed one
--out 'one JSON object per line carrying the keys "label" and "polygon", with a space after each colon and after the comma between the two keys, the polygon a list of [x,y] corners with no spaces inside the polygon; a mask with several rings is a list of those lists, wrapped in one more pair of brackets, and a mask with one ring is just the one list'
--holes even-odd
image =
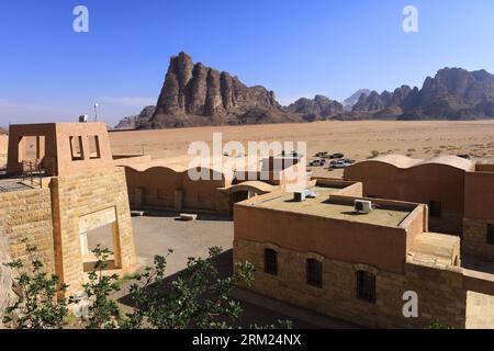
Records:
{"label": "shaded brown building at right with wavy vaulted roof, behind flat-roofed one", "polygon": [[345,179],[362,182],[368,197],[427,204],[431,229],[460,235],[468,260],[494,260],[494,165],[389,155],[348,167]]}

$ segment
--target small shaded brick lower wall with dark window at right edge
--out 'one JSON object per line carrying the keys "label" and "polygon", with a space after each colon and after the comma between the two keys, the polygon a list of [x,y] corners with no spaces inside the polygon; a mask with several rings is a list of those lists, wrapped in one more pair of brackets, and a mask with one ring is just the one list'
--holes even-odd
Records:
{"label": "small shaded brick lower wall with dark window at right edge", "polygon": [[463,219],[461,245],[464,256],[494,261],[494,245],[487,244],[487,224],[494,224],[494,219]]}

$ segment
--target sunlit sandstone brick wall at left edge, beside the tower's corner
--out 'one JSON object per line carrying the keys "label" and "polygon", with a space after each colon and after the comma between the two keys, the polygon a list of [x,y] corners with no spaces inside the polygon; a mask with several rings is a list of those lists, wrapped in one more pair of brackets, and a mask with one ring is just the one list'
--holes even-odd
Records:
{"label": "sunlit sandstone brick wall at left edge, beside the tower's corner", "polygon": [[[48,272],[54,270],[52,201],[49,189],[33,189],[0,194],[0,226],[10,245],[13,260],[29,259],[26,245],[37,248]],[[23,242],[27,239],[27,242]]]}

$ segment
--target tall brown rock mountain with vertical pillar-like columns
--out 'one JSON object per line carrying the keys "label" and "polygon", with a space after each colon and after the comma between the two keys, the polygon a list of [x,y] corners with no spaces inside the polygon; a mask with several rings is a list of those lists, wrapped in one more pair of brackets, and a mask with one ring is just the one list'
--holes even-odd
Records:
{"label": "tall brown rock mountain with vertical pillar-like columns", "polygon": [[[170,59],[153,116],[137,128],[189,127],[303,122],[261,86],[247,87],[237,77],[202,64],[186,53]],[[130,122],[132,124],[132,121]]]}

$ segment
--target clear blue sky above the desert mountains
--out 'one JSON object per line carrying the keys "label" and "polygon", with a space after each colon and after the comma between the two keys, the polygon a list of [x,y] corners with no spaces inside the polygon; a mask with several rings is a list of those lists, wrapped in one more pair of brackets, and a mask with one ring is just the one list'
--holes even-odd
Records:
{"label": "clear blue sky above the desert mountains", "polygon": [[[72,10],[89,9],[89,33]],[[402,30],[418,9],[418,33]],[[274,90],[282,103],[316,93],[419,86],[439,68],[494,72],[492,0],[2,0],[0,125],[75,121],[114,125],[159,94],[181,50]]]}

